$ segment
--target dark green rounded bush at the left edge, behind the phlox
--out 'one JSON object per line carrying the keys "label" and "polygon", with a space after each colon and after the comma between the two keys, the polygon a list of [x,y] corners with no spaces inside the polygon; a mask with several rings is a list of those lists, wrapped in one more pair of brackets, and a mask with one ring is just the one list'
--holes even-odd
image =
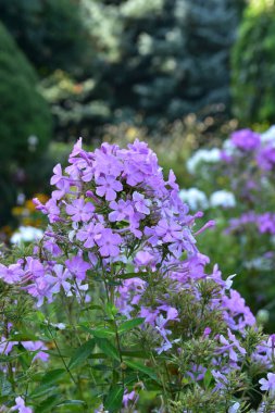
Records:
{"label": "dark green rounded bush at the left edge, behind the phlox", "polygon": [[27,182],[28,165],[39,162],[51,137],[51,114],[36,85],[34,68],[0,24],[1,218],[15,186]]}

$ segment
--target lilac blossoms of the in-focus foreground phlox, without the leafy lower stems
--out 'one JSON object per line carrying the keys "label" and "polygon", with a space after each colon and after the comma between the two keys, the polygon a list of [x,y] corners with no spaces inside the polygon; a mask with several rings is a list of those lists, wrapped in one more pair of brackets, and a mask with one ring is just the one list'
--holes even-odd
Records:
{"label": "lilac blossoms of the in-focus foreground phlox, without the leafy lower stems", "polygon": [[[232,289],[233,277],[224,280],[217,265],[209,274],[210,260],[197,248],[197,235],[213,222],[196,230],[202,213],[189,213],[173,172],[165,180],[157,155],[138,140],[127,149],[103,143],[95,152],[85,151],[79,140],[68,166],[59,164],[53,172],[50,200],[35,200],[49,226],[30,256],[1,264],[0,278],[18,285],[40,306],[60,295],[83,304],[100,277],[114,286],[120,314],[143,318],[140,337],[155,356],[179,360],[191,384],[211,372],[213,391],[223,398],[230,375],[246,364],[248,329],[257,326]],[[192,339],[205,346],[205,359],[185,360],[185,346]],[[254,348],[253,363],[272,374],[270,350],[263,350],[270,349],[268,340]],[[23,346],[42,351],[35,342]],[[261,381],[271,398],[272,380]],[[125,405],[137,400],[133,389],[125,391]]]}

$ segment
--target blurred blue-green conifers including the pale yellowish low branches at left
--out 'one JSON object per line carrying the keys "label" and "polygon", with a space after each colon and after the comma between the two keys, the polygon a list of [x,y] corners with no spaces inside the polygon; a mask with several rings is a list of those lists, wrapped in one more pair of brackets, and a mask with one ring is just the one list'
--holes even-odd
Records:
{"label": "blurred blue-green conifers including the pale yellowish low branches at left", "polygon": [[82,0],[80,10],[95,49],[90,71],[42,82],[59,138],[101,135],[105,123],[155,130],[202,110],[228,115],[236,4]]}

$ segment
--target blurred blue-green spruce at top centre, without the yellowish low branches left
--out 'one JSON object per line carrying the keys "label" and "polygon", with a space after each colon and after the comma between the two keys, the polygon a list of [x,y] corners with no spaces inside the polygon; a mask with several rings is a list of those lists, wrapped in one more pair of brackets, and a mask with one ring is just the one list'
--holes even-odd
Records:
{"label": "blurred blue-green spruce at top centre, without the yellowish low branches left", "polygon": [[[228,51],[237,16],[226,0],[85,1],[86,18],[103,58],[111,108],[142,112],[149,125],[213,103],[228,103]],[[107,28],[98,30],[99,23]],[[100,87],[100,85],[99,85]]]}

